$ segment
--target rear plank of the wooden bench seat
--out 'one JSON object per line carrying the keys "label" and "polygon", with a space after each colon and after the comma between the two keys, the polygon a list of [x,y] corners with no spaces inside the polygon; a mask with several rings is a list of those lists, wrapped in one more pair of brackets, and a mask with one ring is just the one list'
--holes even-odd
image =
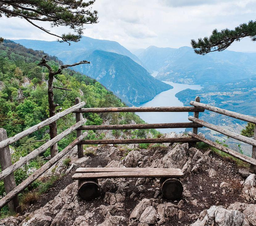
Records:
{"label": "rear plank of the wooden bench seat", "polygon": [[89,168],[77,168],[76,172],[155,172],[155,171],[161,171],[161,172],[178,172],[180,173],[180,169],[175,168],[126,168],[126,167],[89,167]]}

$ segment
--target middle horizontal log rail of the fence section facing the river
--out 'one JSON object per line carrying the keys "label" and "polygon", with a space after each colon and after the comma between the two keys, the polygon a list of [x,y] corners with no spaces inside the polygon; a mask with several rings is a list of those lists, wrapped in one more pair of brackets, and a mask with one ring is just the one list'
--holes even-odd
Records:
{"label": "middle horizontal log rail of the fence section facing the river", "polygon": [[83,125],[78,130],[109,130],[109,129],[163,129],[163,128],[195,128],[203,127],[194,122],[127,124],[127,125]]}

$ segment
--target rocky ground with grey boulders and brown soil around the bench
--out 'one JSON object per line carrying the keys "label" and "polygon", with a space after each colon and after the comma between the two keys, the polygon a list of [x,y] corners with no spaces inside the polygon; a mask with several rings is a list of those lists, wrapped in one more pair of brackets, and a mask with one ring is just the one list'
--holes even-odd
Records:
{"label": "rocky ground with grey boulders and brown soil around the bench", "polygon": [[[125,153],[129,148],[127,156]],[[247,226],[256,225],[255,174],[221,157],[184,144],[138,149],[138,145],[87,148],[96,156],[77,159],[76,148],[43,177],[61,175],[54,186],[18,217],[0,220],[0,225],[47,226]],[[57,166],[57,167],[56,167]],[[169,201],[161,195],[159,179],[101,179],[100,196],[92,201],[77,196],[78,167],[180,168],[184,172],[183,196]],[[55,168],[55,170],[52,170]],[[54,171],[54,172],[52,172]]]}

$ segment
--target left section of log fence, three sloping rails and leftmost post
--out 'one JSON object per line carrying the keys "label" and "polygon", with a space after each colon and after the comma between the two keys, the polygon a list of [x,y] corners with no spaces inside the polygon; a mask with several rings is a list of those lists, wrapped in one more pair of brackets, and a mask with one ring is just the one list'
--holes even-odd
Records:
{"label": "left section of log fence, three sloping rails and leftmost post", "polygon": [[[4,196],[0,200],[0,208],[2,208],[4,205],[8,203],[8,207],[10,211],[19,211],[19,202],[17,199],[17,195],[22,192],[27,186],[29,186],[31,183],[33,183],[39,176],[41,176],[47,169],[49,169],[56,161],[60,160],[61,157],[63,157],[65,154],[68,153],[75,145],[78,145],[78,143],[87,136],[87,132],[80,134],[75,141],[73,141],[70,145],[68,145],[65,149],[63,149],[60,153],[58,153],[56,156],[54,156],[50,161],[48,161],[46,164],[44,164],[41,168],[36,170],[31,176],[29,176],[26,180],[24,180],[21,184],[16,186],[15,180],[14,180],[14,174],[13,172],[23,165],[25,165],[30,160],[37,157],[39,154],[46,151],[48,148],[50,148],[52,145],[56,144],[58,141],[63,139],[68,134],[72,133],[74,130],[79,128],[81,125],[83,125],[86,122],[86,119],[83,119],[82,117],[79,119],[79,121],[76,122],[76,124],[72,125],[53,139],[47,141],[43,145],[41,145],[39,148],[35,149],[31,153],[29,153],[27,156],[22,157],[14,164],[11,163],[11,156],[10,156],[10,149],[9,145],[19,141],[21,138],[26,137],[30,135],[31,133],[42,129],[44,126],[47,126],[51,124],[54,121],[57,121],[58,119],[68,115],[69,113],[72,113],[74,110],[80,109],[85,105],[85,102],[76,101],[77,104],[54,115],[53,117],[50,117],[42,122],[40,122],[37,125],[32,126],[29,129],[24,130],[21,133],[16,134],[13,137],[7,138],[6,130],[3,128],[0,128],[0,163],[2,172],[0,172],[0,180],[4,180],[4,186],[6,191],[6,196]],[[81,132],[81,131],[79,131]],[[79,133],[78,133],[79,134]]]}

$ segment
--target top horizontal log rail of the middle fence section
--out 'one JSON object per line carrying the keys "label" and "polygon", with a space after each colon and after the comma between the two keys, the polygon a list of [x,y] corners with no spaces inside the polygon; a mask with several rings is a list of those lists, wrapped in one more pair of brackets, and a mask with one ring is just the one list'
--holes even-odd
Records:
{"label": "top horizontal log rail of the middle fence section", "polygon": [[123,107],[123,108],[81,108],[74,113],[103,113],[103,112],[203,112],[203,108],[190,106],[181,107]]}

